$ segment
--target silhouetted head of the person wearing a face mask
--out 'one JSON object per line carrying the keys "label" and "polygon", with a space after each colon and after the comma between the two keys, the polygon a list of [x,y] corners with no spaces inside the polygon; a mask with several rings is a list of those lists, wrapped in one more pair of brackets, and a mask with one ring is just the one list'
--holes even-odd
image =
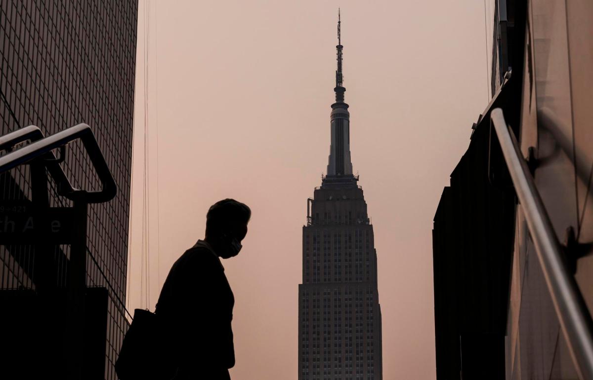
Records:
{"label": "silhouetted head of the person wearing a face mask", "polygon": [[223,259],[237,256],[247,234],[251,210],[235,199],[222,199],[206,214],[206,241]]}

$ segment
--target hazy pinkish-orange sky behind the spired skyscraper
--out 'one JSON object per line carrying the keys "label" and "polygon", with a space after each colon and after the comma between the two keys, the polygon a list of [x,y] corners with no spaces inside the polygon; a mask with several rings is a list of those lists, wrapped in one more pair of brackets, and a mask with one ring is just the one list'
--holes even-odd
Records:
{"label": "hazy pinkish-orange sky behind the spired skyscraper", "polygon": [[141,1],[127,305],[154,310],[210,205],[248,204],[244,248],[223,262],[236,298],[234,380],[298,376],[302,226],[329,154],[338,7],[352,163],[375,230],[384,379],[436,377],[432,218],[489,100],[484,3]]}

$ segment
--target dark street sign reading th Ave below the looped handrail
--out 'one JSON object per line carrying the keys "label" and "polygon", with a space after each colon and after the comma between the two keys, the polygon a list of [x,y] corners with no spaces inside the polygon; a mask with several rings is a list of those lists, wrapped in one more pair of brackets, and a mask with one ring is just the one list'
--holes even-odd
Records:
{"label": "dark street sign reading th Ave below the looped handrail", "polygon": [[0,203],[0,244],[71,244],[74,209]]}

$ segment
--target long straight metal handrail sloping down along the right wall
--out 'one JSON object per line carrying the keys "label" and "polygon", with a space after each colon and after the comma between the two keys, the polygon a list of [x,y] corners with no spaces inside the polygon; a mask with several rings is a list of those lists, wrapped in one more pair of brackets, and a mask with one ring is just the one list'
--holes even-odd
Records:
{"label": "long straight metal handrail sloping down along the right wall", "polygon": [[496,130],[506,166],[523,208],[527,227],[540,261],[560,327],[579,377],[593,380],[593,330],[591,317],[565,262],[550,217],[535,182],[522,158],[514,133],[506,125],[502,110],[495,108],[490,120]]}

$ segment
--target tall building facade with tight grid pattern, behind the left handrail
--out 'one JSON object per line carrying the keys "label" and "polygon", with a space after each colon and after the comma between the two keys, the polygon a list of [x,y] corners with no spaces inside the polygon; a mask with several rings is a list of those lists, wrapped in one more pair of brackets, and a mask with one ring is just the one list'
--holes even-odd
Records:
{"label": "tall building facade with tight grid pattern, behind the left handrail", "polygon": [[[86,123],[93,128],[118,186],[116,198],[90,205],[87,227],[87,285],[104,286],[110,296],[107,379],[116,378],[113,364],[128,327],[125,291],[137,17],[135,1],[0,0],[0,133],[37,125],[49,136]],[[82,144],[68,145],[62,167],[76,188],[100,188]],[[3,201],[31,198],[28,171],[25,165],[4,176]],[[72,205],[55,194],[50,191],[50,205]],[[58,286],[65,281],[68,255],[69,246],[56,247]],[[33,247],[1,246],[1,288],[34,289],[33,263]]]}

